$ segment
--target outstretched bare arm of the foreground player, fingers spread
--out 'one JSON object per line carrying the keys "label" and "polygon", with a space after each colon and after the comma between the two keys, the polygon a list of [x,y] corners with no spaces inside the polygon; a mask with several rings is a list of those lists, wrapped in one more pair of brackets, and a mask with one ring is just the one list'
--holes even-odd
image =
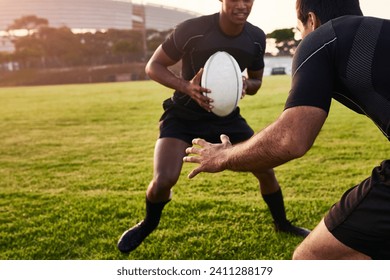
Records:
{"label": "outstretched bare arm of the foreground player, fingers spread", "polygon": [[221,136],[222,144],[211,144],[194,139],[185,162],[199,163],[189,178],[201,172],[265,171],[303,156],[313,145],[327,117],[322,109],[309,106],[285,110],[271,125],[249,140],[232,146],[227,136]]}

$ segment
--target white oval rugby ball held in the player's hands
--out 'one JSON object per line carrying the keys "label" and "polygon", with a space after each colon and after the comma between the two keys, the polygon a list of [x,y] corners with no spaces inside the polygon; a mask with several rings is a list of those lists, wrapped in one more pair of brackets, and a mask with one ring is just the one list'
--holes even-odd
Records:
{"label": "white oval rugby ball held in the player's hands", "polygon": [[214,100],[213,112],[224,117],[237,107],[242,95],[241,69],[233,56],[219,51],[210,56],[203,68],[202,87],[211,90],[204,93]]}

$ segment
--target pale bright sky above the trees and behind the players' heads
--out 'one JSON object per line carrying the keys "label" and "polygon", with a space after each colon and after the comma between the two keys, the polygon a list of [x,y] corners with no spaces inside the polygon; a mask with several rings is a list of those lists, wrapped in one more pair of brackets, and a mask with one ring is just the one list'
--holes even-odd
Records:
{"label": "pale bright sky above the trees and behind the players' heads", "polygon": [[[219,12],[221,7],[218,0],[139,0],[138,2],[176,7],[201,14]],[[367,16],[390,19],[389,0],[360,0],[360,7]],[[296,27],[295,0],[256,0],[248,20],[263,29],[265,33],[271,33],[275,29]]]}

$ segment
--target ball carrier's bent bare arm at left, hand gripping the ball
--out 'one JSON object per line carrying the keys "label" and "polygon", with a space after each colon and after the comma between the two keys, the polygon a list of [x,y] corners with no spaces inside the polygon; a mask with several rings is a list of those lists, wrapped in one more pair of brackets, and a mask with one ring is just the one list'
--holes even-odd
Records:
{"label": "ball carrier's bent bare arm at left, hand gripping the ball", "polygon": [[210,92],[210,90],[200,86],[203,69],[191,81],[186,81],[168,69],[176,63],[177,61],[172,60],[160,45],[146,64],[145,72],[151,79],[189,95],[205,110],[210,111],[212,99],[203,95],[203,92]]}

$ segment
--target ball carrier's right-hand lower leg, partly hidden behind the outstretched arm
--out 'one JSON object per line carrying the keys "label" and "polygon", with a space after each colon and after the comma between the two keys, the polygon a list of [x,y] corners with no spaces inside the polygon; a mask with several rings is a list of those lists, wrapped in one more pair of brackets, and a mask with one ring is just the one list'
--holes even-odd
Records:
{"label": "ball carrier's right-hand lower leg, partly hidden behind the outstretched arm", "polygon": [[271,212],[275,230],[278,232],[286,232],[306,237],[310,231],[305,228],[292,225],[286,217],[282,190],[275,177],[273,169],[253,174],[259,180],[260,192]]}

